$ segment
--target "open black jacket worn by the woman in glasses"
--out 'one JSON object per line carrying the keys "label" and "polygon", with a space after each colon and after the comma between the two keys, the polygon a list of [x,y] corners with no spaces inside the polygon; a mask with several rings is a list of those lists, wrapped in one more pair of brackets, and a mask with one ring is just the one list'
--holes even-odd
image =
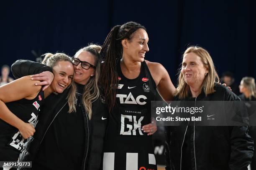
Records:
{"label": "open black jacket worn by the woman in glasses", "polygon": [[[51,68],[38,62],[17,60],[11,66],[11,70],[15,78],[19,78],[25,75],[33,75],[43,71],[51,71]],[[44,108],[41,110],[38,116],[39,121],[36,125],[36,132],[26,143],[26,150],[20,154],[20,161],[32,161],[33,158],[35,158],[49,126],[54,121],[55,117],[58,114],[61,114],[61,110],[64,105],[68,104],[66,99],[68,92],[69,89],[66,89],[59,95],[51,94],[46,98]],[[90,121],[86,110],[83,106],[81,106],[82,113],[84,115],[85,133],[87,133],[87,136],[89,136],[89,139],[85,139],[84,158],[81,165],[81,170],[98,170],[100,168],[103,138],[105,136],[105,127],[107,124],[107,119],[102,120],[102,117],[107,117],[108,115],[107,108],[102,101],[104,100],[99,97],[95,102],[92,103],[92,119]],[[26,170],[26,168],[22,167],[19,169]]]}

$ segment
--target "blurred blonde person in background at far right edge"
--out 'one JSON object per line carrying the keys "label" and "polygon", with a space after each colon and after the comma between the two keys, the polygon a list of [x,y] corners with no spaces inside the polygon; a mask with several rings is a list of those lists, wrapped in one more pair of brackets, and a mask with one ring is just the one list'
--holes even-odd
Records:
{"label": "blurred blonde person in background at far right edge", "polygon": [[[255,80],[253,77],[243,77],[240,85],[239,85],[239,90],[242,93],[239,95],[241,100],[245,101],[248,115],[249,115],[249,122],[250,125],[255,125],[256,124],[256,85],[255,85]],[[254,114],[253,114],[254,113]],[[256,170],[256,126],[250,126],[249,127],[249,135],[254,140],[254,155],[253,159],[251,162],[251,170]]]}

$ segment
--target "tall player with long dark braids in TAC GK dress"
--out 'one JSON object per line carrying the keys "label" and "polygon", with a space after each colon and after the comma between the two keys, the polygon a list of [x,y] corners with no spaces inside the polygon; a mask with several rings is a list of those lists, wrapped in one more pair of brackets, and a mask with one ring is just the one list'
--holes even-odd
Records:
{"label": "tall player with long dark braids in TAC GK dress", "polygon": [[144,60],[148,51],[146,28],[135,22],[113,27],[102,46],[100,82],[110,111],[103,170],[157,169],[150,136],[156,129],[145,125],[156,89],[166,101],[176,89],[161,64]]}

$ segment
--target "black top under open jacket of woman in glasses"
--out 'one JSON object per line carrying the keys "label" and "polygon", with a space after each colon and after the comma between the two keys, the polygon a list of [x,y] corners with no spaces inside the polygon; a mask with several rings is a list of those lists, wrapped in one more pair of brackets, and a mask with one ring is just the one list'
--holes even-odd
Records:
{"label": "black top under open jacket of woman in glasses", "polygon": [[69,105],[56,116],[38,150],[33,168],[81,169],[85,147],[84,116],[81,97],[84,85],[77,84],[76,112],[68,113]]}

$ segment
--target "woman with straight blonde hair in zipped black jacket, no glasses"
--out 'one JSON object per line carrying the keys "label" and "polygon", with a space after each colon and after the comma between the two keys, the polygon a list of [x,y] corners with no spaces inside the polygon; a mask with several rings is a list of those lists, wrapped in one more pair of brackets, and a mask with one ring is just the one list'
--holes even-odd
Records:
{"label": "woman with straight blonde hair in zipped black jacket, no glasses", "polygon": [[[193,107],[201,100],[240,100],[228,88],[215,83],[218,80],[209,53],[201,47],[189,47],[183,55],[174,100],[195,101]],[[247,170],[253,156],[253,140],[247,126],[188,123],[166,127],[166,170]]]}

